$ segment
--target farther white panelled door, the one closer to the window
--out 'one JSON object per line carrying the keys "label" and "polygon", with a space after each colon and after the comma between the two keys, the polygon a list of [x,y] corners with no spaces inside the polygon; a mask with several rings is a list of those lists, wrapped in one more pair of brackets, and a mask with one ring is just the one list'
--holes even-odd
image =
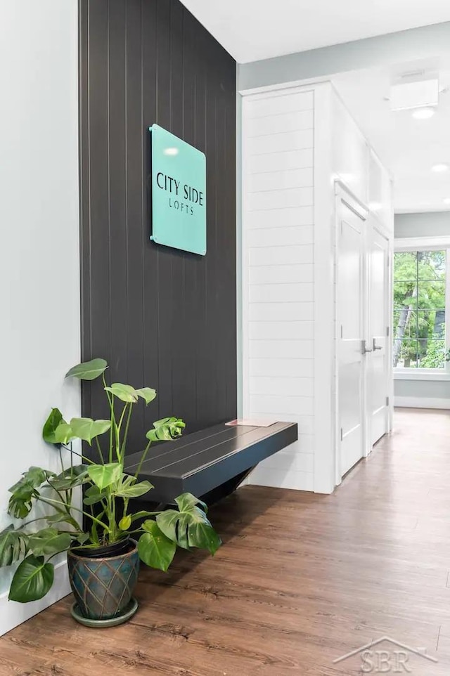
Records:
{"label": "farther white panelled door, the one closer to the window", "polygon": [[370,448],[386,434],[389,426],[390,324],[389,240],[372,224],[368,228],[369,326],[372,352],[368,354],[367,405]]}

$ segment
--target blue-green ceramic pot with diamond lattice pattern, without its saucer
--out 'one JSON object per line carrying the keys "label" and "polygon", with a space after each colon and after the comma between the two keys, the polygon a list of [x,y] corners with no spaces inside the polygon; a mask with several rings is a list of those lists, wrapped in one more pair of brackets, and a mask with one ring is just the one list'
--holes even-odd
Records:
{"label": "blue-green ceramic pot with diamond lattice pattern, without its saucer", "polygon": [[119,617],[131,601],[139,574],[137,543],[116,556],[68,552],[69,580],[79,612],[89,620]]}

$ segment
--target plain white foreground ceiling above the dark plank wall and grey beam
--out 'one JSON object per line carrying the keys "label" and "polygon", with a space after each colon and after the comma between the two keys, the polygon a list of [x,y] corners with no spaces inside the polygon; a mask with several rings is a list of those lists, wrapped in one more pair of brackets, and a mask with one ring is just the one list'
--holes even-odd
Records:
{"label": "plain white foreground ceiling above the dark plank wall and grey beam", "polygon": [[450,20],[449,0],[181,0],[238,63]]}

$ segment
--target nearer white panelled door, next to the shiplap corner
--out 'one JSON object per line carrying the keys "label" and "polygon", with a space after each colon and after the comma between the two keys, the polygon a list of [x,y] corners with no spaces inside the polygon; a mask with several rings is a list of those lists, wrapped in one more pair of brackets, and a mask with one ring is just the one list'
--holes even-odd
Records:
{"label": "nearer white panelled door, next to the shiplap corner", "polygon": [[351,198],[338,194],[337,318],[338,426],[340,476],[365,455],[364,212]]}

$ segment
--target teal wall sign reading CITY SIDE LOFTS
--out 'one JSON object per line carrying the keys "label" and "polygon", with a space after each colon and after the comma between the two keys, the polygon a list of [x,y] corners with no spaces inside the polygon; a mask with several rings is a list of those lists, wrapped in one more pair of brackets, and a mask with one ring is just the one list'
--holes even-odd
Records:
{"label": "teal wall sign reading CITY SIDE LOFTS", "polygon": [[206,157],[158,124],[152,147],[150,240],[193,254],[206,254]]}

